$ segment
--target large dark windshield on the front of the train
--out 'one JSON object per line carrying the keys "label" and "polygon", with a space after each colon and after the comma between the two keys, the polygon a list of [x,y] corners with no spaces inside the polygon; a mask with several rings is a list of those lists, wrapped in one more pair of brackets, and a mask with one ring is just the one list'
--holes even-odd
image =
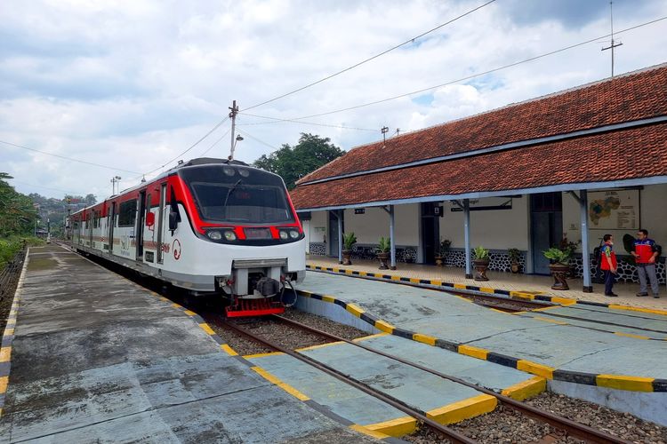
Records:
{"label": "large dark windshield on the front of the train", "polygon": [[278,176],[238,165],[207,165],[179,171],[202,218],[241,224],[293,223],[287,191]]}

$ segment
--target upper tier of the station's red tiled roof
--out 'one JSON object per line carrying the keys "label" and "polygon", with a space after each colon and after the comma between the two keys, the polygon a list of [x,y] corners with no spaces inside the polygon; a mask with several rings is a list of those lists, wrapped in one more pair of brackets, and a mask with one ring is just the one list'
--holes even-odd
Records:
{"label": "upper tier of the station's red tiled roof", "polygon": [[667,115],[665,65],[357,147],[297,184],[659,115]]}

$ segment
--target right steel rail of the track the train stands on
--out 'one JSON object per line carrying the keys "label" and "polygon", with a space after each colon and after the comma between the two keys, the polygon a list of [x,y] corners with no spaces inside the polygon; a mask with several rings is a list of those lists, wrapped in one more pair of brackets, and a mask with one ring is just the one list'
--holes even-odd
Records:
{"label": "right steel rail of the track the train stands on", "polygon": [[481,387],[479,385],[474,385],[471,384],[467,381],[464,381],[458,377],[453,377],[451,375],[446,375],[445,373],[439,372],[438,370],[434,369],[429,369],[428,367],[424,367],[421,364],[418,364],[413,361],[408,361],[404,358],[401,358],[399,356],[390,354],[390,353],[384,353],[380,350],[375,350],[372,347],[369,347],[367,345],[360,344],[358,342],[353,342],[350,341],[349,339],[345,339],[344,337],[337,337],[335,335],[332,335],[331,333],[328,333],[326,331],[322,331],[320,329],[314,329],[308,325],[301,324],[301,322],[293,321],[291,319],[284,318],[282,316],[277,316],[273,315],[273,318],[277,318],[280,321],[285,321],[286,323],[292,324],[300,329],[304,329],[306,331],[310,331],[312,333],[319,334],[324,337],[329,337],[330,339],[333,339],[335,341],[340,341],[340,342],[345,342],[350,345],[356,345],[360,348],[363,348],[364,350],[367,350],[368,352],[372,353],[377,353],[381,356],[384,356],[385,358],[390,358],[392,360],[401,362],[403,364],[409,365],[414,367],[415,369],[420,369],[426,372],[429,372],[432,375],[442,377],[444,379],[448,379],[454,383],[458,383],[461,385],[465,385],[467,387],[473,388],[477,390],[478,392],[483,392],[486,394],[489,394],[491,396],[494,396],[497,400],[502,402],[502,404],[506,405],[507,407],[514,408],[515,410],[520,411],[521,413],[526,414],[527,416],[533,416],[536,419],[539,419],[540,421],[550,424],[554,426],[555,428],[567,432],[567,434],[571,436],[575,436],[577,438],[580,438],[582,440],[585,440],[587,442],[596,442],[600,444],[607,444],[607,443],[618,443],[618,444],[631,444],[631,441],[629,440],[622,440],[620,438],[616,438],[615,436],[609,435],[605,432],[601,432],[599,430],[596,430],[592,427],[589,427],[588,425],[584,424],[579,424],[576,423],[575,421],[572,421],[571,419],[567,419],[567,417],[564,416],[559,416],[556,414],[553,414],[551,412],[548,412],[546,410],[541,410],[539,408],[534,408],[533,406],[530,406],[526,404],[525,402],[521,402],[519,400],[514,400],[510,398],[509,396],[505,396],[501,393],[494,392],[493,390],[489,390],[485,387]]}

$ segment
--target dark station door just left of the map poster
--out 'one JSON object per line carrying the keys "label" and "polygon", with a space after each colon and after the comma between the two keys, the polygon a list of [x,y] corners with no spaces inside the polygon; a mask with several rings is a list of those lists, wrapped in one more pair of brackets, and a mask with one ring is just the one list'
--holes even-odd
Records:
{"label": "dark station door just left of the map poster", "polygon": [[540,193],[530,196],[533,273],[550,274],[549,259],[542,251],[558,247],[563,238],[563,194]]}

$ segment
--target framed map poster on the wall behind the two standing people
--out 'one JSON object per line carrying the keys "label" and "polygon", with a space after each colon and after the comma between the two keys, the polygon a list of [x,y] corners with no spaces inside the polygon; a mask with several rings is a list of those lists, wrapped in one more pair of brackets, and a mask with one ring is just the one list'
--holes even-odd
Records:
{"label": "framed map poster on the wall behind the two standing people", "polygon": [[639,190],[589,193],[588,218],[592,230],[639,229]]}

